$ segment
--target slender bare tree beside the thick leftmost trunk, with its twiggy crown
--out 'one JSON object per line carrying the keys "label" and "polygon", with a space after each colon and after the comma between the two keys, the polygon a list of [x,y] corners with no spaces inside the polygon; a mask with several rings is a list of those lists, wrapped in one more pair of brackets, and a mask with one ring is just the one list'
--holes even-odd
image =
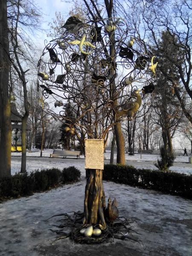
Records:
{"label": "slender bare tree beside the thick leftmost trunk, with its twiggy crown", "polygon": [[29,116],[27,97],[27,82],[29,77],[27,78],[26,75],[29,69],[26,66],[27,63],[33,63],[33,57],[30,52],[32,49],[31,38],[28,37],[25,29],[37,28],[40,15],[38,9],[30,0],[9,0],[8,12],[9,42],[11,45],[10,60],[23,88],[24,114],[22,116],[21,128],[22,158],[20,172],[26,172],[26,124]]}

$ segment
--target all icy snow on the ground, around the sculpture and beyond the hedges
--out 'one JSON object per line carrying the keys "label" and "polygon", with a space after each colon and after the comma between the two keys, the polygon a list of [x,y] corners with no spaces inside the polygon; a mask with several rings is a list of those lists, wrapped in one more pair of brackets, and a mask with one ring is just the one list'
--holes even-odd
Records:
{"label": "all icy snow on the ground, around the sculpture and beyond the hedges", "polygon": [[[39,152],[29,154],[39,154]],[[35,193],[30,197],[2,203],[0,206],[0,255],[2,256],[39,256],[37,249],[39,247],[50,247],[55,239],[55,234],[49,230],[49,228],[54,229],[54,227],[49,225],[58,224],[57,218],[49,221],[46,221],[46,219],[63,212],[83,211],[84,187],[86,184],[83,156],[77,160],[72,158],[48,158],[50,151],[45,151],[45,154],[47,154],[47,157],[27,157],[27,171],[50,167],[62,169],[73,165],[80,169],[81,181],[47,192]],[[105,154],[105,156],[108,158],[108,155]],[[126,155],[128,159],[131,157]],[[138,156],[135,155],[134,157]],[[142,160],[134,157],[129,160],[129,164],[136,167],[149,168],[153,166],[153,161],[155,161],[154,156],[151,155],[147,155],[145,161],[143,160],[145,155],[142,155]],[[12,174],[19,172],[20,160],[20,156],[12,157]],[[105,160],[105,162],[108,163],[109,160]],[[175,164],[174,168],[178,170],[186,168],[189,171],[192,169],[190,164]],[[104,181],[103,185],[106,202],[109,196],[111,198],[116,197],[120,215],[137,221],[137,223],[131,222],[131,225],[134,230],[141,234],[138,235],[138,238],[143,241],[144,252],[147,248],[150,251],[152,249],[153,251],[166,251],[166,255],[192,255],[192,201],[113,182]],[[66,243],[70,248],[73,247],[75,251],[84,248],[84,246],[73,244],[69,240],[60,240],[57,244],[60,244],[62,250],[64,250]],[[126,241],[125,243],[128,244],[129,242]],[[105,255],[110,254],[110,244],[107,244],[107,247],[108,251]],[[95,248],[95,252],[97,252],[97,245],[92,246],[92,248]],[[116,255],[118,254],[118,251],[116,251]],[[61,251],[59,255],[68,254],[62,254]],[[98,255],[98,253],[92,255]],[[150,253],[150,255],[152,254]]]}

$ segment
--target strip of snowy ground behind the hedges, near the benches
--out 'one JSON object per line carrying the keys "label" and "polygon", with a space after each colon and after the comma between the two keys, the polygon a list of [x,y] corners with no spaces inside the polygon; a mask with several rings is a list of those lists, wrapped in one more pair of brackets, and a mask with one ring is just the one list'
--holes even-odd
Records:
{"label": "strip of snowy ground behind the hedges, near the benches", "polygon": [[[45,168],[59,168],[63,169],[68,166],[76,166],[80,169],[82,175],[85,176],[84,170],[84,156],[81,155],[80,159],[74,158],[49,158],[49,155],[52,153],[52,150],[44,150],[43,157],[40,158],[40,151],[34,150],[32,152],[27,152],[27,163],[26,170],[27,172],[35,171],[36,169],[45,169]],[[15,172],[20,172],[20,152],[12,152],[12,175]],[[154,169],[157,170],[157,167],[154,166],[154,163],[157,162],[159,155],[154,154],[135,154],[134,156],[129,156],[125,154],[126,163],[132,165],[136,168],[144,169]],[[141,158],[142,157],[142,158]],[[110,153],[105,153],[105,163],[109,163]],[[114,160],[116,160],[116,154],[114,154]],[[192,165],[189,164],[189,157],[186,156],[177,156],[175,159],[174,166],[170,168],[171,171],[181,172],[186,174],[192,174]]]}

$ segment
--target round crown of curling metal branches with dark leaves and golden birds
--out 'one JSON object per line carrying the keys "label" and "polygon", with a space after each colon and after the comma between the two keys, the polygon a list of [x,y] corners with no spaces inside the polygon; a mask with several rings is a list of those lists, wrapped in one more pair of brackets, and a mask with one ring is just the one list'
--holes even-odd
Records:
{"label": "round crown of curling metal branches with dark leaves and golden birds", "polygon": [[[109,105],[112,108],[112,104],[108,102],[123,97],[121,94],[122,96],[114,98],[112,84],[116,84],[116,90],[128,93],[127,97],[130,99],[130,91],[133,93],[132,81],[141,83],[141,88],[147,86],[145,82],[148,81],[148,76],[144,75],[146,70],[151,69],[153,72],[156,63],[146,54],[143,41],[125,20],[113,18],[83,22],[72,16],[61,29],[61,37],[49,43],[45,41],[45,48],[38,62],[38,73],[41,75],[38,78],[45,86],[43,93],[47,98],[54,94],[56,102],[62,100],[63,104],[64,99],[70,99],[80,109],[79,115],[84,115],[82,111],[91,111],[93,102],[98,101],[99,108],[108,108]],[[116,48],[114,56],[110,55],[112,45]],[[117,70],[123,70],[122,81]],[[55,94],[52,89],[59,93]],[[145,88],[144,90],[146,91]],[[90,96],[89,99],[85,97],[85,93]],[[80,107],[83,105],[86,108]],[[65,118],[63,113],[62,118]]]}

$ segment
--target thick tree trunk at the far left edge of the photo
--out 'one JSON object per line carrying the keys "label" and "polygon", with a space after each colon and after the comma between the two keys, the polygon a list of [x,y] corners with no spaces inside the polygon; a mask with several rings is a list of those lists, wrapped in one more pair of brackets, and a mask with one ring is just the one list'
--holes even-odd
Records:
{"label": "thick tree trunk at the far left edge of the photo", "polygon": [[0,1],[0,177],[11,176],[11,109],[9,102],[9,41],[7,1]]}

